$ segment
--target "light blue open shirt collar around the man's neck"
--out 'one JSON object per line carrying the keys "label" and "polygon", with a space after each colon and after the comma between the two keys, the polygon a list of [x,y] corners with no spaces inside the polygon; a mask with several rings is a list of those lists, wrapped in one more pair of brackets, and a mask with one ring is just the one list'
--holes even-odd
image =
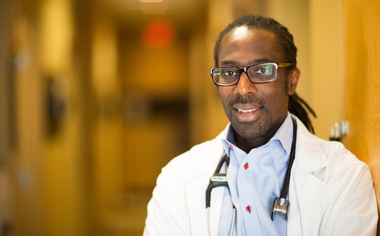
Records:
{"label": "light blue open shirt collar around the man's neck", "polygon": [[[273,140],[280,141],[287,155],[289,155],[293,141],[293,122],[289,112],[287,112],[287,116],[283,124],[281,124],[281,126],[277,129],[276,133],[268,141],[267,144],[270,145]],[[230,124],[228,127],[226,139],[224,139],[223,141],[223,145],[227,153],[229,153],[229,149],[232,148],[232,146],[236,146],[234,130]]]}

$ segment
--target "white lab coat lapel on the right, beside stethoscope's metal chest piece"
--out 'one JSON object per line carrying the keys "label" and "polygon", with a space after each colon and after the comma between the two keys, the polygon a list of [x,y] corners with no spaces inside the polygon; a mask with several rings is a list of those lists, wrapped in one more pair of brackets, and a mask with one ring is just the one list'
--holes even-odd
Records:
{"label": "white lab coat lapel on the right, beside stethoscope's metal chest piece", "polygon": [[325,183],[318,173],[324,171],[327,159],[315,137],[298,122],[296,157],[289,184],[287,235],[317,236],[322,218],[321,204]]}

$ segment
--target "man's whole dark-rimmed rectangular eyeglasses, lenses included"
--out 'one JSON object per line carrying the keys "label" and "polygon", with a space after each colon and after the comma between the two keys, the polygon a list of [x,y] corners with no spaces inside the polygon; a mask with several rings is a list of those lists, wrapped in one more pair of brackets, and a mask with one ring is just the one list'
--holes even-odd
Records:
{"label": "man's whole dark-rimmed rectangular eyeglasses, lenses included", "polygon": [[290,63],[261,63],[247,67],[236,68],[221,66],[210,70],[214,84],[218,86],[231,86],[239,82],[240,75],[247,74],[252,83],[268,83],[277,78],[277,69],[290,66]]}

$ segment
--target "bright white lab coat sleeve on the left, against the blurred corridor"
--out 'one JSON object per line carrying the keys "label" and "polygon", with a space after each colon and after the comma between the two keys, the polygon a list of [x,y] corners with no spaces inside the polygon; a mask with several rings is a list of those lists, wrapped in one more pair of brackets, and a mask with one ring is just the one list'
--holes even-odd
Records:
{"label": "bright white lab coat sleeve on the left, against the blurred corridor", "polygon": [[190,235],[184,219],[187,214],[184,184],[177,171],[178,166],[170,163],[158,176],[152,199],[148,203],[143,236]]}

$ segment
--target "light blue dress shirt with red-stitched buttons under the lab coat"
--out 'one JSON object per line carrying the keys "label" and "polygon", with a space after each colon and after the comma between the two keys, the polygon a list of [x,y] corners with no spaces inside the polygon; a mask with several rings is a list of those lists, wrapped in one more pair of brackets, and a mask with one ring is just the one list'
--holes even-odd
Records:
{"label": "light blue dress shirt with red-stitched buttons under the lab coat", "polygon": [[[234,141],[229,128],[223,146],[230,158],[218,236],[226,236],[236,207],[234,236],[286,236],[286,220],[280,215],[270,218],[273,200],[280,197],[292,144],[293,125],[290,113],[275,135],[247,154]],[[221,170],[221,172],[226,171]]]}

